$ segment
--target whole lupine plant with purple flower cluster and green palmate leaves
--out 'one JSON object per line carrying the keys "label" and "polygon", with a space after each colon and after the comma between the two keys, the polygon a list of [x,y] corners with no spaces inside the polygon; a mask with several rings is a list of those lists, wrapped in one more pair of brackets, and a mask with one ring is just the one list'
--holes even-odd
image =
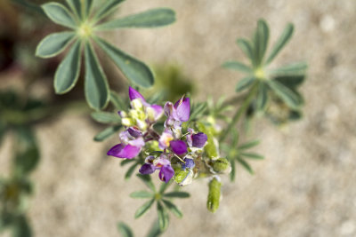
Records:
{"label": "whole lupine plant with purple flower cluster and green palmate leaves", "polygon": [[[82,65],[85,67],[85,99],[89,107],[95,110],[92,117],[96,122],[108,124],[94,140],[102,142],[118,134],[117,144],[111,144],[107,154],[121,160],[121,166],[130,166],[125,179],[137,173],[136,177],[148,187],[149,190],[130,194],[135,199],[148,199],[135,211],[134,217],[142,217],[156,206],[157,221],[147,236],[158,236],[166,230],[170,220],[168,213],[182,217],[181,209],[173,200],[190,197],[181,189],[198,185],[194,180],[206,179],[206,208],[215,213],[222,197],[223,177],[230,176],[233,181],[238,170],[236,164],[254,173],[248,161],[263,159],[263,155],[250,151],[251,148],[255,149],[259,141],[243,139],[244,142],[240,143],[240,137],[244,134],[237,130],[238,122],[251,121],[260,114],[274,123],[282,124],[302,115],[303,97],[297,89],[303,83],[306,64],[271,66],[272,60],[292,36],[292,24],[287,25],[271,51],[267,51],[270,29],[264,20],[258,20],[250,40],[238,39],[237,43],[247,56],[248,63],[223,63],[225,68],[246,74],[237,83],[238,99],[198,102],[190,94],[183,93],[172,101],[162,101],[159,91],[155,94],[145,93],[154,83],[150,67],[108,43],[99,33],[117,28],[166,26],[174,22],[174,11],[158,8],[110,20],[109,15],[124,0],[107,0],[96,8],[93,7],[93,0],[65,2],[42,5],[44,14],[50,20],[69,30],[44,37],[36,48],[36,56],[51,58],[64,52],[65,56],[54,75],[54,90],[58,94],[70,91],[80,77]],[[107,76],[94,50],[96,48],[109,56],[128,79],[130,86],[127,96],[120,96],[117,91],[109,89]],[[10,111],[13,112],[12,109]],[[13,113],[8,116],[11,115],[11,119],[0,120],[0,135],[7,130],[8,122],[23,118]],[[23,150],[18,149],[14,158],[13,178],[0,182],[0,194],[4,200],[1,224],[21,225],[20,230],[26,231],[28,224],[20,200],[31,193],[28,173],[36,167],[39,154],[31,131],[20,130],[19,134],[23,135],[19,135],[20,138],[25,138],[22,140],[31,142],[24,142],[25,145],[21,146]],[[155,174],[158,180],[152,181],[151,176]],[[160,182],[159,188],[154,182]],[[167,191],[170,188],[171,191]],[[8,213],[12,222],[8,221]],[[117,227],[123,236],[134,235],[123,222]]]}

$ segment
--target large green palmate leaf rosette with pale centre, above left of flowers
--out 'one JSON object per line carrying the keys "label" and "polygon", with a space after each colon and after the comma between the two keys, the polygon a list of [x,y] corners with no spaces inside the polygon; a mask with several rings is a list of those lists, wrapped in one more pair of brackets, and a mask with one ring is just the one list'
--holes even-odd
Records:
{"label": "large green palmate leaf rosette with pale centre, above left of flowers", "polygon": [[124,0],[105,1],[96,11],[92,11],[93,0],[66,0],[68,6],[54,2],[42,5],[50,20],[69,28],[68,31],[46,36],[36,49],[36,56],[51,58],[65,51],[70,45],[54,75],[56,93],[66,93],[76,85],[84,51],[85,99],[88,105],[96,110],[107,106],[110,98],[109,83],[93,49],[93,43],[112,59],[131,83],[146,88],[154,83],[150,67],[97,36],[97,33],[116,28],[162,27],[173,23],[175,14],[170,9],[158,8],[105,21],[122,2]]}

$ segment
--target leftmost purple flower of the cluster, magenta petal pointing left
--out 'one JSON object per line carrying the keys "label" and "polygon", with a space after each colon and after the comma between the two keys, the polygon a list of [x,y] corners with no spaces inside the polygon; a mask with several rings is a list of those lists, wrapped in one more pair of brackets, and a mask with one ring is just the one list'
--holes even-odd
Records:
{"label": "leftmost purple flower of the cluster, magenta petal pointing left", "polygon": [[140,154],[142,146],[145,145],[142,132],[134,127],[120,132],[119,138],[121,143],[112,146],[107,153],[108,155],[132,159]]}

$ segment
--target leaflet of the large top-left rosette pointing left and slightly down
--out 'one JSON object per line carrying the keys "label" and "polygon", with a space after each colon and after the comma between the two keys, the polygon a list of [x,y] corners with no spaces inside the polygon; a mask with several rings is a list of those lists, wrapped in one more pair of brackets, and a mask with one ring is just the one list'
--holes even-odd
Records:
{"label": "leaflet of the large top-left rosette pointing left and slightly down", "polygon": [[36,56],[41,58],[52,58],[64,51],[70,41],[74,38],[74,32],[54,33],[46,36],[36,48]]}

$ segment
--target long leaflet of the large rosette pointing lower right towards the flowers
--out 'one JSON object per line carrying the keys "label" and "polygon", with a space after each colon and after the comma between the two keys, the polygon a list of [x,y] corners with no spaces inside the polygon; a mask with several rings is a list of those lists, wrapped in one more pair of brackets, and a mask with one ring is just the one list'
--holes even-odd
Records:
{"label": "long leaflet of the large rosette pointing lower right towards the flowers", "polygon": [[134,57],[126,54],[124,51],[120,51],[101,38],[95,37],[94,39],[101,46],[101,49],[114,61],[117,67],[121,69],[127,79],[142,87],[153,85],[154,77],[150,71],[150,67],[147,67],[142,61],[134,59]]}

